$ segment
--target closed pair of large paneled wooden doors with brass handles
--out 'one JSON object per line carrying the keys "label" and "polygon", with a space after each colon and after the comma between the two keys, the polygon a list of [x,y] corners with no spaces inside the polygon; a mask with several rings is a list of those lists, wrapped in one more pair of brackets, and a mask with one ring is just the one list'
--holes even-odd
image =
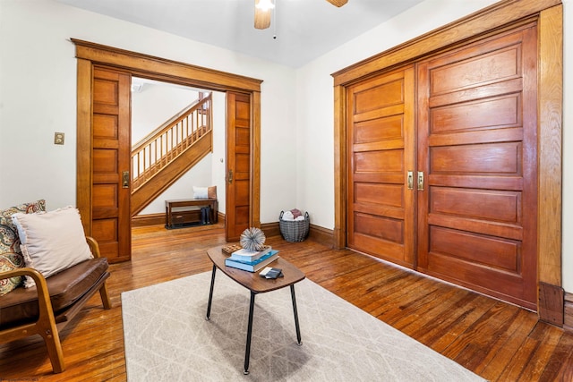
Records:
{"label": "closed pair of large paneled wooden doors with brass handles", "polygon": [[347,88],[347,246],[536,309],[537,32]]}

